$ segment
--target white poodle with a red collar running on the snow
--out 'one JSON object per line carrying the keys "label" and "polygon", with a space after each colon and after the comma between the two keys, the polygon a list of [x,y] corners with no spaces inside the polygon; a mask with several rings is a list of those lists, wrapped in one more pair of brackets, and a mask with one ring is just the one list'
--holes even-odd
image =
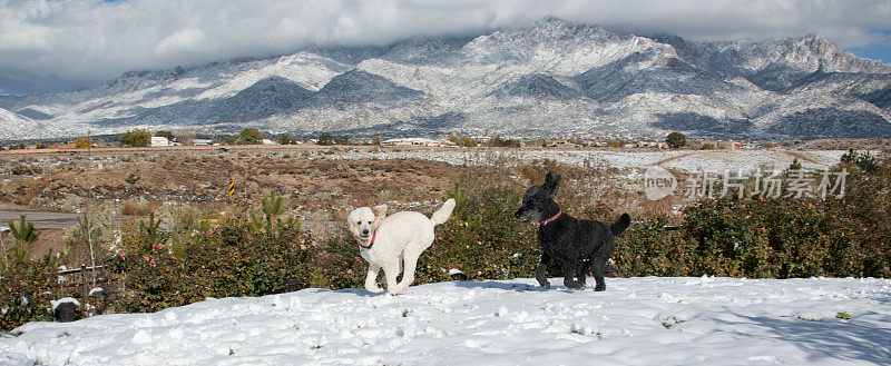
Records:
{"label": "white poodle with a red collar running on the snow", "polygon": [[[386,216],[386,205],[374,208],[360,207],[347,218],[350,233],[359,240],[359,253],[369,261],[365,289],[382,293],[378,286],[378,271],[383,268],[386,290],[396,295],[414,281],[418,258],[433,244],[433,227],[446,222],[454,209],[454,199],[449,199],[430,218],[423,214],[402,211]],[[396,276],[405,273],[396,284]]]}

